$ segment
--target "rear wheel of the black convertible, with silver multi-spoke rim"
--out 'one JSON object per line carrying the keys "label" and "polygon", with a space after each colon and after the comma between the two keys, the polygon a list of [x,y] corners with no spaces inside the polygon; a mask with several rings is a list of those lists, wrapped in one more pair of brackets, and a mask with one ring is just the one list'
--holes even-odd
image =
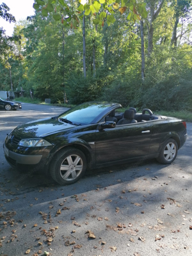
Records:
{"label": "rear wheel of the black convertible, with silver multi-spoke rim", "polygon": [[173,139],[168,139],[163,144],[157,161],[161,164],[170,164],[177,157],[178,145]]}

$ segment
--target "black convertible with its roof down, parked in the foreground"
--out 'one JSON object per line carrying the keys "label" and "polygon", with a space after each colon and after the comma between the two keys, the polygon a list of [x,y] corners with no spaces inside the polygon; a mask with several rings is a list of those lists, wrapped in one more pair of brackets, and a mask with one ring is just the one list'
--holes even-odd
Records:
{"label": "black convertible with its roof down, parked in the foreground", "polygon": [[184,145],[186,122],[150,109],[124,113],[120,104],[86,102],[60,116],[16,127],[4,141],[4,156],[19,170],[44,170],[72,184],[87,168],[156,158],[170,164]]}

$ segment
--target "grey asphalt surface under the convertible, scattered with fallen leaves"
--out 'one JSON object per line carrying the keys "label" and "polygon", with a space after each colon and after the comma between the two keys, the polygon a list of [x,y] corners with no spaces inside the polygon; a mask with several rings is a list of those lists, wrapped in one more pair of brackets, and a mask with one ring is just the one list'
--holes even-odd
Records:
{"label": "grey asphalt surface under the convertible, scattered with fallen leaves", "polygon": [[0,256],[191,255],[192,124],[170,165],[152,159],[100,168],[70,186],[13,170],[3,154],[6,134],[63,111],[25,103],[0,111]]}

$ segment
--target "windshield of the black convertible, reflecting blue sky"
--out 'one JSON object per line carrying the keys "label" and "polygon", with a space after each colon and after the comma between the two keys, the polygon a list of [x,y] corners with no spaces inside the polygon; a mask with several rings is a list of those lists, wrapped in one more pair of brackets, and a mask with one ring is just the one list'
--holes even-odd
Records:
{"label": "windshield of the black convertible, reflecting blue sky", "polygon": [[109,108],[111,104],[102,104],[96,102],[86,102],[68,110],[67,112],[58,116],[58,119],[69,121],[73,124],[91,124],[93,120],[102,113],[105,109]]}

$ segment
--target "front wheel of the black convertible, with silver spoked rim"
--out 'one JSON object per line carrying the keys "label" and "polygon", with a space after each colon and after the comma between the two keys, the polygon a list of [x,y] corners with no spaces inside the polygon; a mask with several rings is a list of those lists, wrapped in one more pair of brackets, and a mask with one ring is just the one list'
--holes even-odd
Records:
{"label": "front wheel of the black convertible, with silver spoked rim", "polygon": [[60,150],[52,160],[49,168],[52,179],[61,185],[77,182],[85,171],[86,157],[81,150],[76,148]]}

